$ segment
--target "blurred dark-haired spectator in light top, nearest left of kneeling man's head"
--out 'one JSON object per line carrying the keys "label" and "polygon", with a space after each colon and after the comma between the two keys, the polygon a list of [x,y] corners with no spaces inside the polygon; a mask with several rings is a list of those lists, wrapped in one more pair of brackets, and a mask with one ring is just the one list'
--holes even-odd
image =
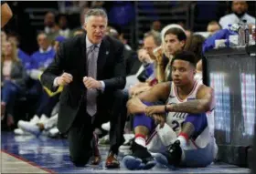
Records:
{"label": "blurred dark-haired spectator in light top, nearest left of kneeling man's head", "polygon": [[64,15],[64,14],[59,15],[58,25],[59,25],[59,31],[57,34],[58,36],[65,36],[67,38],[71,36],[67,15]]}

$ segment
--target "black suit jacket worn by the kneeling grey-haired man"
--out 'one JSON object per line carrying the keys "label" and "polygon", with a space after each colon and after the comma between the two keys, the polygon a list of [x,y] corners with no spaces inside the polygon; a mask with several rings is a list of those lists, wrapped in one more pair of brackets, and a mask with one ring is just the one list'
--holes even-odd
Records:
{"label": "black suit jacket worn by the kneeling grey-haired man", "polygon": [[[105,36],[102,39],[97,62],[97,80],[102,80],[105,83],[103,93],[111,94],[115,90],[125,87],[123,47],[120,41],[110,36]],[[53,81],[56,77],[63,72],[73,76],[73,81],[64,87],[59,98],[58,128],[62,133],[69,130],[78,115],[81,103],[86,102],[84,98],[87,89],[82,82],[83,77],[87,77],[86,64],[86,34],[84,34],[69,38],[61,44],[54,61],[41,77],[43,86],[55,91],[57,87],[53,87]]]}

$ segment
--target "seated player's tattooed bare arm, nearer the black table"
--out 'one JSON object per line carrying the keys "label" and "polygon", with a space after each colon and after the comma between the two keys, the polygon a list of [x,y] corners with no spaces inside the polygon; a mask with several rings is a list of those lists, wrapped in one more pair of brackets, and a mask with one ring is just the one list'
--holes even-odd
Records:
{"label": "seated player's tattooed bare arm, nearer the black table", "polygon": [[185,112],[200,114],[212,110],[214,107],[214,91],[211,87],[202,85],[198,88],[197,99],[179,104],[169,104],[166,110],[169,112]]}

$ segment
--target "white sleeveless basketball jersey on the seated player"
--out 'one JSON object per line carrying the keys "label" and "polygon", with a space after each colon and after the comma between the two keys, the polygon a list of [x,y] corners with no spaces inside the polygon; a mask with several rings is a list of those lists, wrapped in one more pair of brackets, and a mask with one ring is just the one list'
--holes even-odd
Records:
{"label": "white sleeveless basketball jersey on the seated player", "polygon": [[[169,97],[167,99],[167,104],[171,103],[183,103],[187,102],[189,100],[194,100],[197,98],[197,90],[202,85],[202,83],[195,81],[194,87],[185,99],[181,99],[177,95],[177,89],[175,84],[171,83],[171,91],[169,94]],[[212,112],[213,113],[213,112]],[[181,132],[182,125],[184,121],[187,118],[187,113],[181,113],[181,112],[169,112],[166,118],[166,123],[173,128],[173,130],[176,132],[176,135],[178,135]],[[203,130],[203,132],[197,137],[195,140],[195,143],[200,148],[205,148],[208,145],[208,141],[210,137],[213,137],[214,132],[214,118],[211,115],[211,113],[207,113],[208,118],[208,127]]]}

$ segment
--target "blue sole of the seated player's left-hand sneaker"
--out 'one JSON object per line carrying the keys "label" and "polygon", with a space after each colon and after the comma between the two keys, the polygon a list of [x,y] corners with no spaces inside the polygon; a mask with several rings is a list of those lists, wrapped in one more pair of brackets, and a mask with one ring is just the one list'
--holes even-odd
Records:
{"label": "blue sole of the seated player's left-hand sneaker", "polygon": [[123,165],[127,169],[152,169],[155,167],[155,160],[148,161],[146,164],[143,163],[142,159],[135,159],[133,156],[125,156],[123,157]]}

